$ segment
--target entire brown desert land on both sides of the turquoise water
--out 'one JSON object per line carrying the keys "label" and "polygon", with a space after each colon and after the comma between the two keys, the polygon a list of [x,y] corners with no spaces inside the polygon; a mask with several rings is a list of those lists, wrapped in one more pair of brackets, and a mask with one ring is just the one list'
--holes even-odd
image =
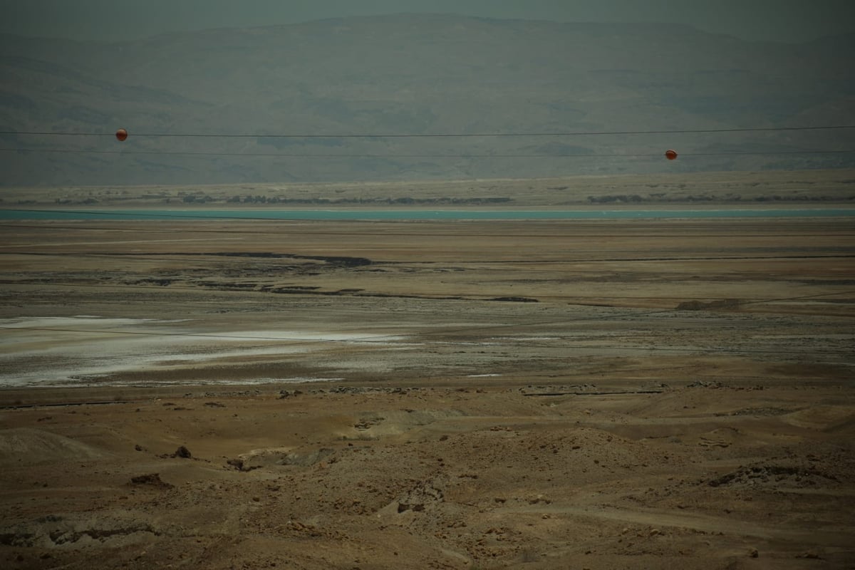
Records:
{"label": "entire brown desert land on both sides of the turquoise water", "polygon": [[[851,209],[855,172],[10,189],[0,206],[188,195]],[[855,567],[851,215],[0,236],[0,567]]]}

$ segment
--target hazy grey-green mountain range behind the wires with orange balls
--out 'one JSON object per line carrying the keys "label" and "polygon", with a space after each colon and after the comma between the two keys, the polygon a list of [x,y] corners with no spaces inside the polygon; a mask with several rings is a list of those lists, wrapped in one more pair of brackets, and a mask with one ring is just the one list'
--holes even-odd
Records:
{"label": "hazy grey-green mountain range behind the wires with orange balls", "polygon": [[[855,131],[845,129],[321,137],[855,125],[853,61],[852,35],[752,43],[687,26],[456,15],[346,18],[109,44],[2,35],[0,131],[109,135],[124,127],[131,135],[119,143],[110,136],[0,134],[0,184],[853,167],[852,153],[799,154],[855,148]],[[306,136],[180,136],[186,134]],[[681,156],[664,160],[668,148]]]}

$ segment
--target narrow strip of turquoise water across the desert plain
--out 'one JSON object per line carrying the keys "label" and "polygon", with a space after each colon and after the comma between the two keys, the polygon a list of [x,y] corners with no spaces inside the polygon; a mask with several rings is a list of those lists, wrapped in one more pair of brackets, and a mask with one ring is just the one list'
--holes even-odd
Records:
{"label": "narrow strip of turquoise water across the desert plain", "polygon": [[0,209],[0,220],[631,220],[668,218],[851,217],[855,209],[667,209],[667,210],[42,210]]}

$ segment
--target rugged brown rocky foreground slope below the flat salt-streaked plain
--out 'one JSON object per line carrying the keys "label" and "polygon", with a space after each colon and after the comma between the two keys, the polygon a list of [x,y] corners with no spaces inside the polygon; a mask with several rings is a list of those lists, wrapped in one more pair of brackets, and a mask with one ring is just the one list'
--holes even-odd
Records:
{"label": "rugged brown rocky foreground slope below the flat salt-streaked plain", "polygon": [[3,566],[855,561],[839,381],[473,384],[5,409]]}

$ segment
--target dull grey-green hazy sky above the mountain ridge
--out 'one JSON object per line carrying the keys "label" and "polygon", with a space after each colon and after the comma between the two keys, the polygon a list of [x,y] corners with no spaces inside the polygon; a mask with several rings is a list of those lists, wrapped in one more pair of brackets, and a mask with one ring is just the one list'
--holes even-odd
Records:
{"label": "dull grey-green hazy sky above the mountain ridge", "polygon": [[785,42],[855,32],[855,0],[0,0],[0,32],[113,40],[400,12],[670,22]]}

